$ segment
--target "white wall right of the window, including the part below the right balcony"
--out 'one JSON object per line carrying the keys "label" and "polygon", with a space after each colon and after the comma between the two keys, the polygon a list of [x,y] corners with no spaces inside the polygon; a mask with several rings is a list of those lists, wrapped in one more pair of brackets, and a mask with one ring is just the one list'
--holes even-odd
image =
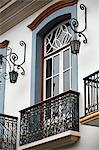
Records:
{"label": "white wall right of the window, including the part below the right balcony", "polygon": [[[78,91],[80,92],[79,110],[80,117],[84,115],[84,82],[83,78],[99,70],[99,1],[98,0],[79,0],[78,20],[79,28],[84,26],[84,13],[79,5],[87,7],[87,29],[84,34],[87,37],[87,44],[81,43],[78,55]],[[79,30],[80,30],[79,29]],[[83,38],[81,38],[81,41]],[[81,138],[73,147],[66,150],[99,150],[99,127],[80,125]]]}

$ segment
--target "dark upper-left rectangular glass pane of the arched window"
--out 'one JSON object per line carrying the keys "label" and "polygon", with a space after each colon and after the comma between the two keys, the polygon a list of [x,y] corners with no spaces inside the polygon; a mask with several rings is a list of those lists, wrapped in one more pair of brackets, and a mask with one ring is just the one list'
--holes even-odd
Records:
{"label": "dark upper-left rectangular glass pane of the arched window", "polygon": [[46,78],[52,75],[52,58],[46,61]]}

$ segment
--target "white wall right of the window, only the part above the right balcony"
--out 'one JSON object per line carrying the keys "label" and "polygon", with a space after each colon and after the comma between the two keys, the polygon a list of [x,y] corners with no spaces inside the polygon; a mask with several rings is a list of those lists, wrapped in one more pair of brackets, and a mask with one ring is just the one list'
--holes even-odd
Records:
{"label": "white wall right of the window, only the part above the right balcony", "polygon": [[[80,114],[83,115],[83,78],[99,70],[99,1],[80,0],[78,3],[79,30],[84,27],[84,13],[79,5],[84,4],[87,7],[87,29],[84,32],[87,37],[87,44],[81,43],[78,56],[78,89],[80,92]],[[83,41],[83,37],[81,41]]]}

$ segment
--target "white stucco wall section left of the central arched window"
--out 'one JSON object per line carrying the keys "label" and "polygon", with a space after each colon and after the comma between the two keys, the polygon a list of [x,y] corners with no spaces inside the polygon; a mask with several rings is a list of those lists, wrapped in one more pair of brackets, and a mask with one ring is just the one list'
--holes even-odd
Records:
{"label": "white stucco wall section left of the central arched window", "polygon": [[[32,52],[32,31],[27,27],[44,9],[59,0],[53,0],[24,21],[8,30],[0,36],[0,41],[9,40],[9,47],[16,52],[19,62],[23,60],[23,48],[19,45],[21,40],[26,43],[26,62],[23,65],[25,76],[19,74],[17,83],[11,84],[6,81],[4,113],[19,116],[19,110],[30,106],[30,87],[31,87],[31,52]],[[21,73],[21,70],[19,71]]]}

